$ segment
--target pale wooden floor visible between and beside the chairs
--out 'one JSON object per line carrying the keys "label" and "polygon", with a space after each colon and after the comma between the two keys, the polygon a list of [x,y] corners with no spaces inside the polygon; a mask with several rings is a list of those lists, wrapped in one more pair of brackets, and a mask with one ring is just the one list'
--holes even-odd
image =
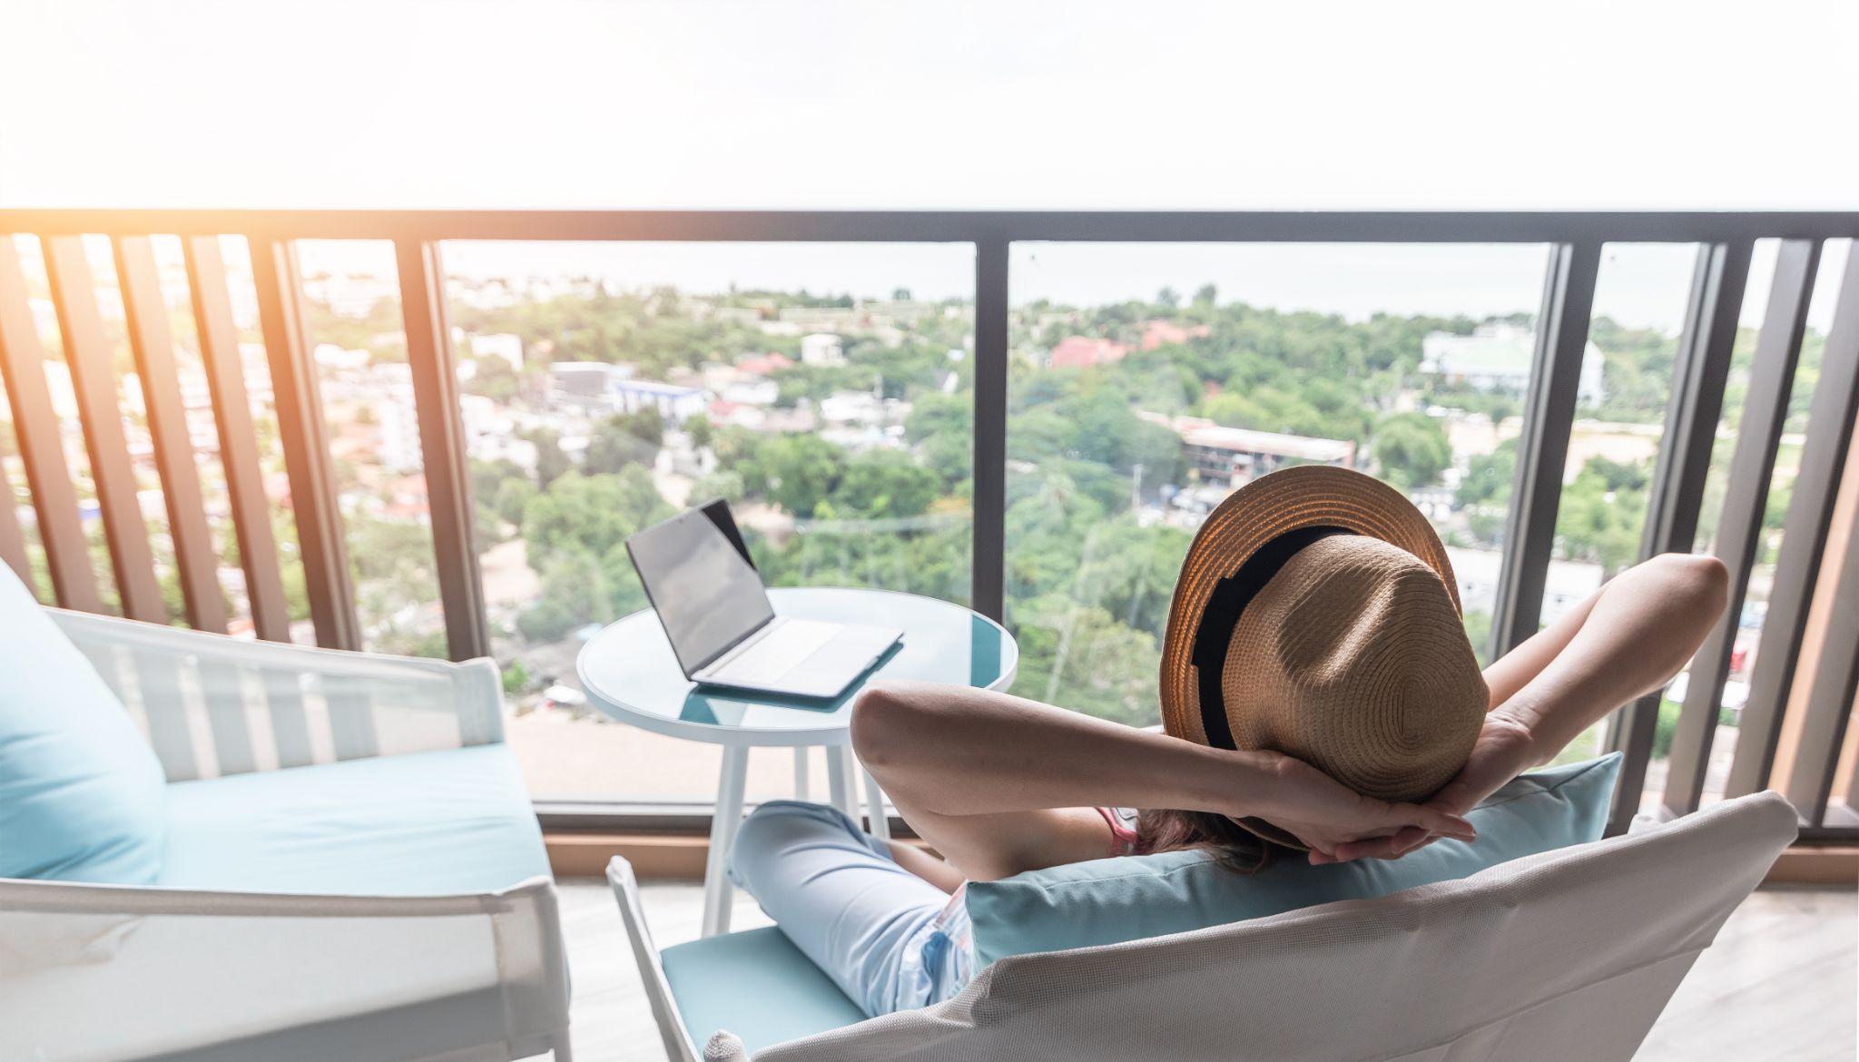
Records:
{"label": "pale wooden floor visible between and beside the chairs", "polygon": [[[697,936],[695,883],[645,885],[658,947]],[[658,1029],[604,882],[561,885],[574,976],[576,1062],[664,1062]],[[736,898],[732,928],[768,924]],[[1853,1062],[1859,895],[1766,889],[1744,902],[1679,988],[1640,1062]]]}

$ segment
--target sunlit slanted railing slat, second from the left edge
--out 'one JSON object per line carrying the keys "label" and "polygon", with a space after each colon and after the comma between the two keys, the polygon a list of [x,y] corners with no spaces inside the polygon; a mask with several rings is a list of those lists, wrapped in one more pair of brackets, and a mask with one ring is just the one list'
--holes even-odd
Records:
{"label": "sunlit slanted railing slat, second from the left edge", "polygon": [[84,238],[46,236],[45,272],[52,281],[52,301],[58,303],[58,327],[65,335],[65,366],[71,370],[78,417],[84,420],[91,482],[97,484],[97,504],[102,510],[123,616],[167,623],[162,584],[154,578],[149,523],[141,519],[136,469],[123,433],[115,366],[110,363],[110,344],[97,312],[91,264],[84,257]]}

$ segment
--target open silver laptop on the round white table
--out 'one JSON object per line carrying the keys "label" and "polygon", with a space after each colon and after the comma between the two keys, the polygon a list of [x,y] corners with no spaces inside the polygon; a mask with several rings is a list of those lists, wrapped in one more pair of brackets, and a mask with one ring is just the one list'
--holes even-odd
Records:
{"label": "open silver laptop on the round white table", "polygon": [[628,538],[626,554],[693,683],[837,697],[903,638],[894,627],[775,616],[721,498]]}

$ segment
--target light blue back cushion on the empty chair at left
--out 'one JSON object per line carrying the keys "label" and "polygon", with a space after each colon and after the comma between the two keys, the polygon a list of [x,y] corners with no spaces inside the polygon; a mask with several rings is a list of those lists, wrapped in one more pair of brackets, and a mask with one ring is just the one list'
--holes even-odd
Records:
{"label": "light blue back cushion on the empty chair at left", "polygon": [[164,789],[123,701],[0,564],[0,878],[152,883]]}

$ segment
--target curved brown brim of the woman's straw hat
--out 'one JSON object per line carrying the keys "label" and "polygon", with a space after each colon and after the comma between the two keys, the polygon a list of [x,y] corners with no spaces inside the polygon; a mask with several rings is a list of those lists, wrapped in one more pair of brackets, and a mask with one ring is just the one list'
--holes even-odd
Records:
{"label": "curved brown brim of the woman's straw hat", "polygon": [[[1160,697],[1162,727],[1167,733],[1208,744],[1192,655],[1214,588],[1268,541],[1307,526],[1338,526],[1415,554],[1446,584],[1452,608],[1463,616],[1459,584],[1444,543],[1400,491],[1374,476],[1333,465],[1296,465],[1270,472],[1220,502],[1195,532],[1182,560],[1162,640]],[[1266,833],[1257,828],[1259,822],[1242,826],[1270,841],[1285,843],[1288,837],[1281,830]]]}

